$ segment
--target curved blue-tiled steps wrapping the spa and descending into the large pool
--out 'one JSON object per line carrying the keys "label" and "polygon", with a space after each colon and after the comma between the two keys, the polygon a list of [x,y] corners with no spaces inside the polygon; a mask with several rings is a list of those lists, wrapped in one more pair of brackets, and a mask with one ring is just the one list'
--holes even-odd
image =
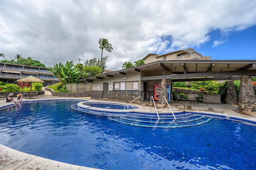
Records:
{"label": "curved blue-tiled steps wrapping the spa and descending into the large pool", "polygon": [[95,115],[108,116],[110,120],[124,123],[126,125],[140,127],[159,127],[159,128],[178,128],[201,125],[210,121],[212,118],[197,113],[141,113],[136,109],[111,110],[104,108],[84,107],[84,105],[72,105],[73,109]]}

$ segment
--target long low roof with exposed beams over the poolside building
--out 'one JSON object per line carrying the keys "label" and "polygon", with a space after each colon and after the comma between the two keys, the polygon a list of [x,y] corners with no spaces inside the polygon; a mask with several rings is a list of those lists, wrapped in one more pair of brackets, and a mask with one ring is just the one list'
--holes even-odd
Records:
{"label": "long low roof with exposed beams over the poolside building", "polygon": [[256,76],[256,60],[160,60],[128,69],[122,69],[81,81],[93,81],[128,75],[132,71],[150,72],[141,80],[172,79],[172,81],[239,80],[241,75]]}

